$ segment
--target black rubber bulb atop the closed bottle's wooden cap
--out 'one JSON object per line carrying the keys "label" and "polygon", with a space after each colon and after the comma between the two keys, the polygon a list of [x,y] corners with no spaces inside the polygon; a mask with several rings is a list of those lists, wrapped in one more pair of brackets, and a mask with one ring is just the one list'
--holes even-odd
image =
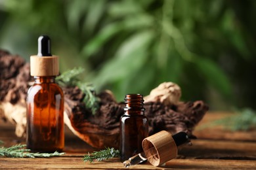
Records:
{"label": "black rubber bulb atop the closed bottle's wooden cap", "polygon": [[47,35],[41,35],[38,38],[38,53],[37,56],[52,56],[51,54],[51,39]]}

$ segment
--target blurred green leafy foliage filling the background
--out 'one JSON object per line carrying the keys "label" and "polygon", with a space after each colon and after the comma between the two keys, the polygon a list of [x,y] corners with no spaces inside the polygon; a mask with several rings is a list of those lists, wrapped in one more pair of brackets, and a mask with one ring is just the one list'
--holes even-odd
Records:
{"label": "blurred green leafy foliage filling the background", "polygon": [[83,80],[118,101],[172,81],[183,101],[256,109],[255,9],[250,0],[0,0],[0,48],[29,61],[49,35],[61,72],[83,67]]}

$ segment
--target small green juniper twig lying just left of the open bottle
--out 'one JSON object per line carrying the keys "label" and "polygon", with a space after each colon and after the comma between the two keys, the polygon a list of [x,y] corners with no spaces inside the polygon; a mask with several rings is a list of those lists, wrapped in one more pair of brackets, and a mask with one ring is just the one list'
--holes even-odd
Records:
{"label": "small green juniper twig lying just left of the open bottle", "polygon": [[114,148],[105,148],[104,150],[100,150],[98,152],[93,152],[92,154],[87,154],[83,158],[83,161],[103,161],[108,160],[110,158],[117,158],[119,156],[119,150],[115,150]]}

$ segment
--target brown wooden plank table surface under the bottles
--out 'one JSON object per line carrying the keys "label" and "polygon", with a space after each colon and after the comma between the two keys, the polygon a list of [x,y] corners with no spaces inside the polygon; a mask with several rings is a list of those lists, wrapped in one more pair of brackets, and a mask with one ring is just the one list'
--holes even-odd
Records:
{"label": "brown wooden plank table surface under the bottles", "polygon": [[[196,127],[193,146],[179,149],[177,159],[168,161],[164,167],[149,163],[135,165],[129,169],[256,169],[256,131],[234,132],[223,126],[205,126],[209,122],[232,116],[230,113],[211,112],[205,114]],[[0,169],[125,169],[118,158],[95,163],[84,163],[83,156],[94,148],[81,141],[66,128],[66,154],[55,158],[0,158]],[[24,143],[14,134],[14,126],[0,120],[0,140],[5,146]]]}

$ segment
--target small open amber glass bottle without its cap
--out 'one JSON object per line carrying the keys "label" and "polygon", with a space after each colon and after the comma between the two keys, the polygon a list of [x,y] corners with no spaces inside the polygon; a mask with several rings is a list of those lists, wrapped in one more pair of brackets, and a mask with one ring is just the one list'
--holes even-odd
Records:
{"label": "small open amber glass bottle without its cap", "polygon": [[120,118],[121,161],[143,151],[142,141],[148,137],[148,120],[144,115],[143,102],[143,95],[125,95],[125,113]]}

